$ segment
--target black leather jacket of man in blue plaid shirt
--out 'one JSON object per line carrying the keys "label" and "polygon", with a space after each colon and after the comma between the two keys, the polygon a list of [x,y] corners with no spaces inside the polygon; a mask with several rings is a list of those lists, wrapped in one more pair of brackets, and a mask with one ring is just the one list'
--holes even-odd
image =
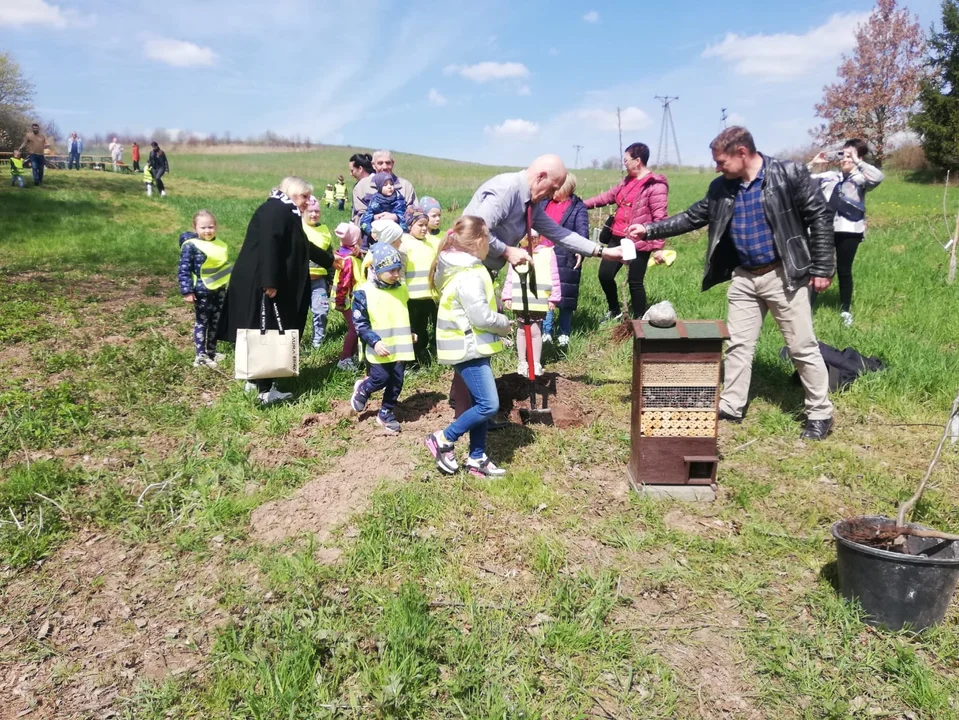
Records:
{"label": "black leather jacket of man in blue plaid shirt", "polygon": [[[818,183],[803,165],[772,157],[764,159],[763,210],[790,287],[806,284],[810,275],[831,278],[836,270],[832,211],[826,206]],[[739,185],[739,180],[718,177],[709,184],[702,200],[646,226],[646,237],[658,239],[709,225],[703,290],[731,279],[740,264],[729,236]]]}

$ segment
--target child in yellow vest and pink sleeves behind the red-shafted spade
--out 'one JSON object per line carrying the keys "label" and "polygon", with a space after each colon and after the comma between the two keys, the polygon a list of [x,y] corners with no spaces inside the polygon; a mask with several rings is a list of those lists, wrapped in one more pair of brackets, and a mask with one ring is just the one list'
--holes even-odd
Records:
{"label": "child in yellow vest and pink sleeves behind the red-shafted spade", "polygon": [[[533,267],[536,271],[536,294],[533,294],[533,288],[527,283],[526,297],[529,307],[531,320],[530,336],[533,341],[533,372],[538,376],[543,374],[543,332],[542,321],[546,313],[553,312],[556,304],[560,301],[559,284],[559,265],[556,262],[556,253],[553,251],[553,243],[544,237],[537,235],[533,231],[535,248],[533,249]],[[529,247],[526,238],[520,241],[521,247]],[[523,288],[520,283],[519,273],[522,272],[529,277],[529,267],[522,265],[519,269],[510,265],[506,274],[506,282],[503,284],[503,307],[507,310],[512,309],[518,320],[516,328],[516,352],[519,361],[516,365],[516,372],[523,377],[528,377],[529,363],[526,352],[526,331],[523,329]]]}

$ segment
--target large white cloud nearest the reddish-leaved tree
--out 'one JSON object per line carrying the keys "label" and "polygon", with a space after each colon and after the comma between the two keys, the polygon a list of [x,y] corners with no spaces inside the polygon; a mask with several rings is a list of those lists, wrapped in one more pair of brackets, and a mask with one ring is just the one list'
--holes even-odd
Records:
{"label": "large white cloud nearest the reddish-leaved tree", "polygon": [[731,63],[739,75],[769,82],[793,80],[835,65],[839,56],[855,45],[856,26],[868,17],[867,12],[833,15],[804,35],[727,33],[722,42],[708,46],[702,56]]}

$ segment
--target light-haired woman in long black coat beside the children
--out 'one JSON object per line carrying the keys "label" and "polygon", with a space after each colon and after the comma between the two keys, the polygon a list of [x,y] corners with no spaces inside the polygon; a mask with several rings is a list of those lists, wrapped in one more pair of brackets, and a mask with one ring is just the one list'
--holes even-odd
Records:
{"label": "light-haired woman in long black coat beside the children", "polygon": [[[221,339],[236,342],[237,330],[260,327],[264,294],[269,298],[267,328],[278,329],[272,299],[283,329],[296,328],[302,337],[310,307],[310,260],[327,270],[333,267],[333,254],[309,242],[303,233],[301,213],[312,192],[313,186],[302,178],[284,178],[253,213],[230,276]],[[256,386],[264,404],[292,397],[277,390],[273,380],[257,380]],[[248,389],[252,388],[248,385]]]}

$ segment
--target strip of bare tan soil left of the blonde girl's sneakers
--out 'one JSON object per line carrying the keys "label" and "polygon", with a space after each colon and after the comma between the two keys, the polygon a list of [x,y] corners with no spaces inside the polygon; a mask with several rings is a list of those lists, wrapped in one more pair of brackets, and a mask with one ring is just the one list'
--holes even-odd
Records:
{"label": "strip of bare tan soil left of the blonde girl's sneakers", "polygon": [[413,469],[409,454],[398,443],[396,436],[371,435],[341,457],[329,473],[311,480],[292,497],[261,505],[250,518],[253,538],[280,542],[312,532],[324,542],[333,528],[366,507],[381,481],[401,480]]}

